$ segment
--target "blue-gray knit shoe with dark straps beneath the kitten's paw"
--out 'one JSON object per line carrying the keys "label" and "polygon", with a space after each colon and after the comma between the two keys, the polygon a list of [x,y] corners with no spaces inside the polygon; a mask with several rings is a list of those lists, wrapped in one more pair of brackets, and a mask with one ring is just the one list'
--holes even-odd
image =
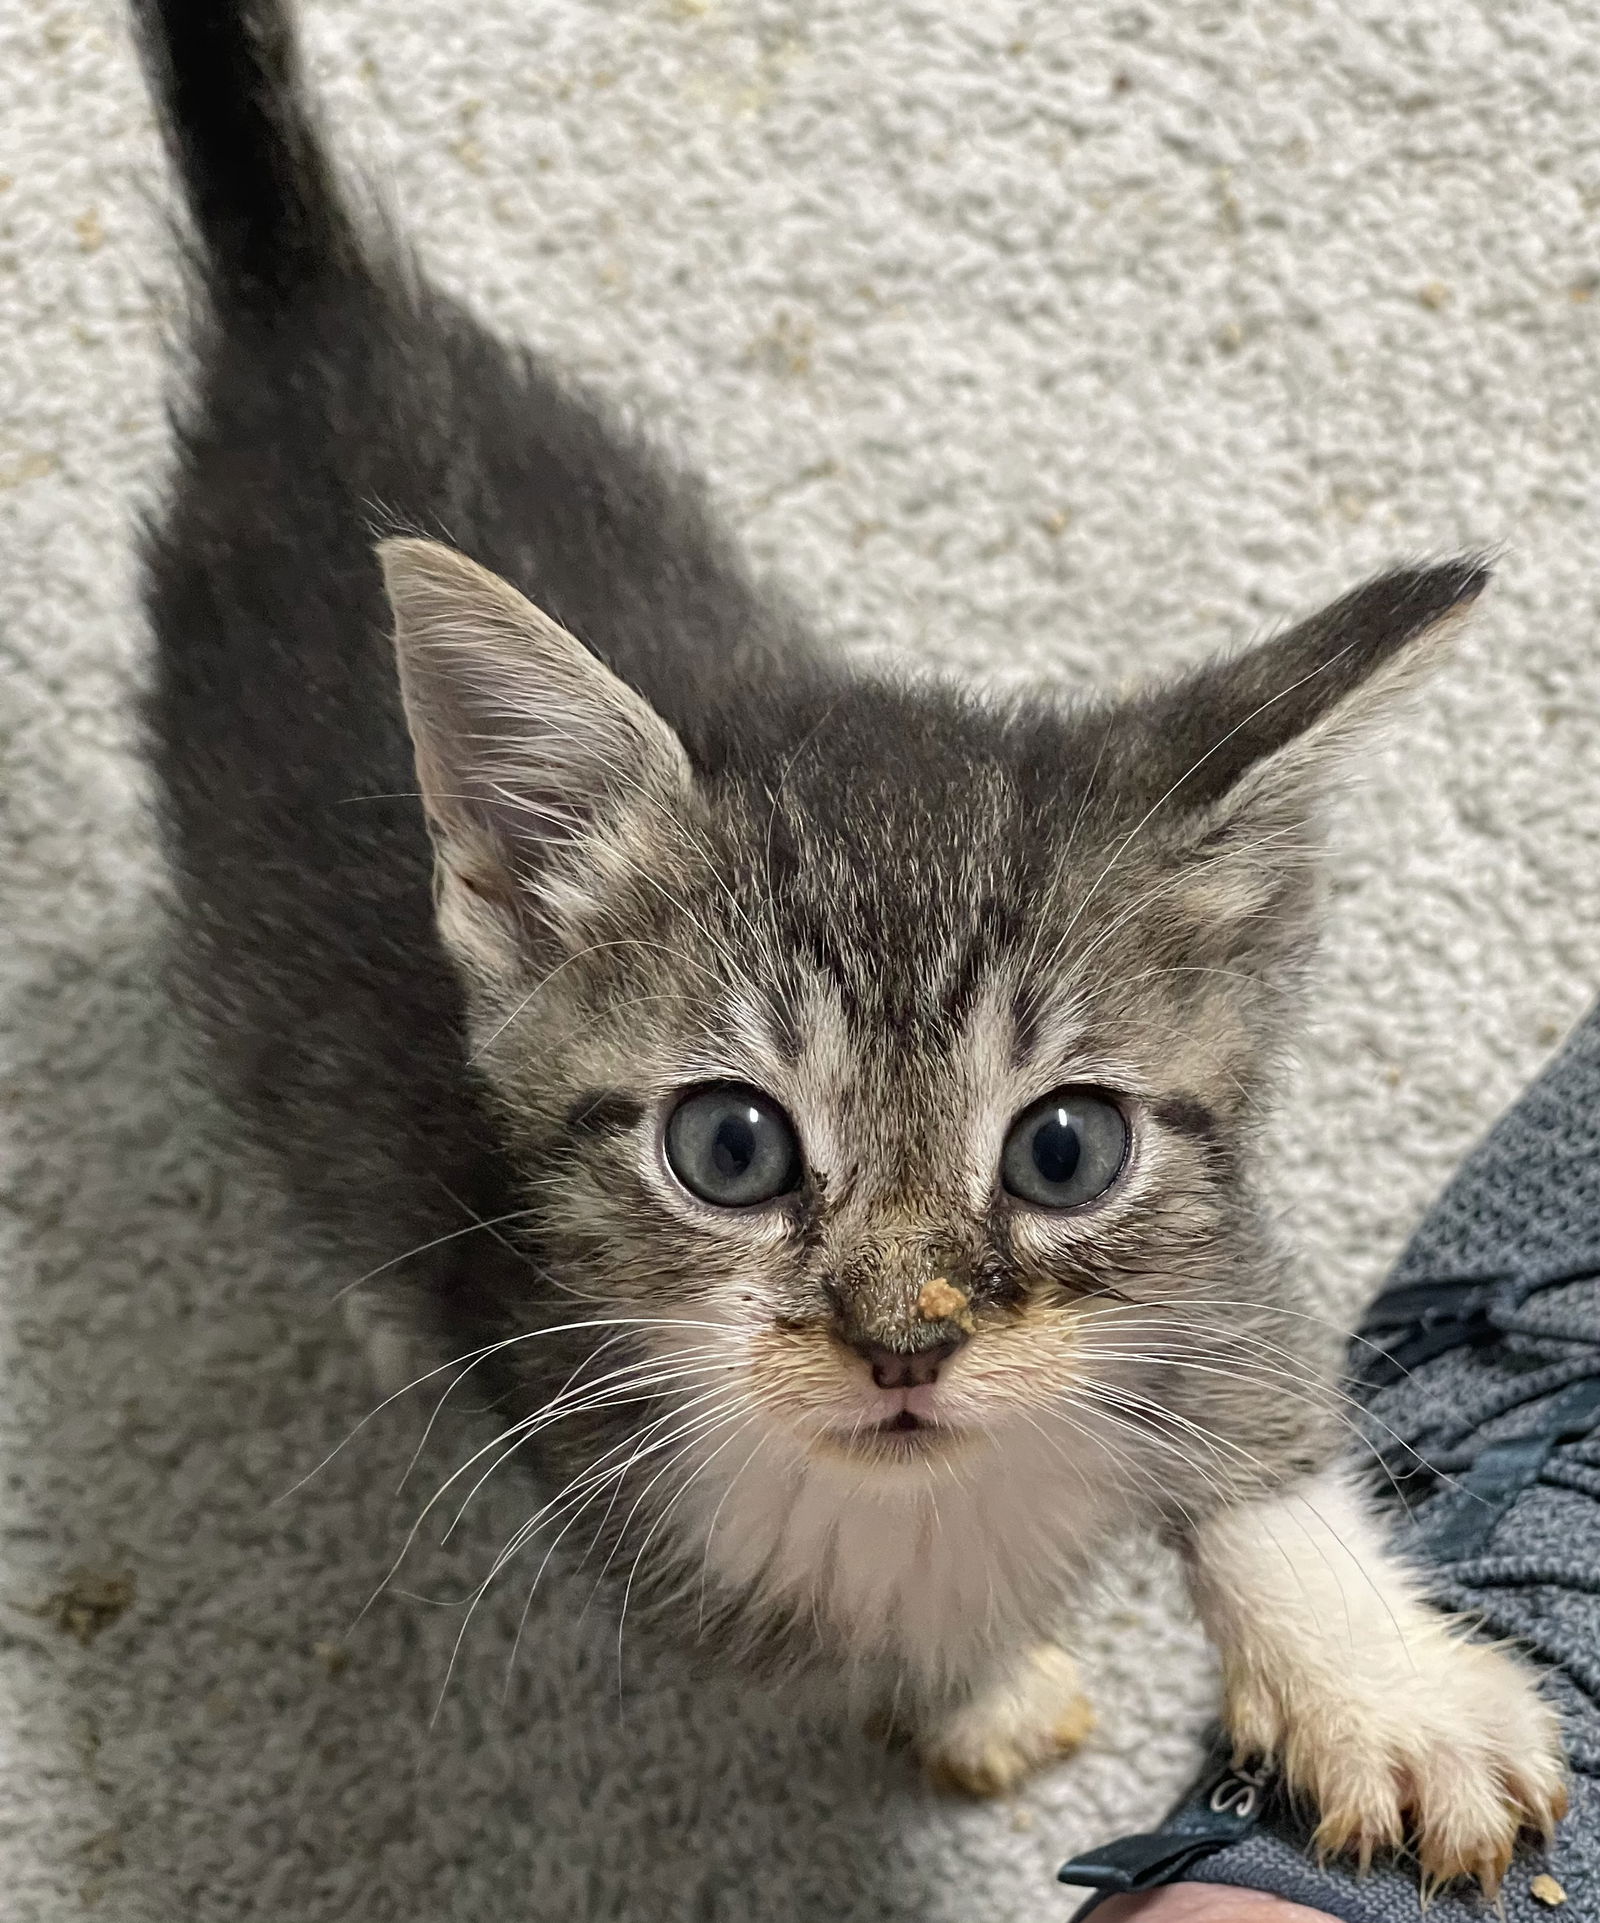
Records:
{"label": "blue-gray knit shoe with dark straps beneath the kitten's paw", "polygon": [[[1408,1340],[1427,1350],[1429,1336],[1398,1306],[1410,1311],[1419,1285],[1448,1298],[1452,1283],[1463,1285],[1469,1321],[1440,1329],[1440,1352],[1410,1373],[1387,1369],[1358,1342],[1358,1394],[1410,1508],[1398,1540],[1431,1567],[1431,1592],[1548,1665],[1562,1710],[1571,1810],[1548,1850],[1517,1858],[1500,1913],[1506,1923],[1600,1923],[1600,1008],[1421,1223],[1373,1308],[1373,1342],[1402,1356]],[[1538,1463],[1535,1479],[1513,1494],[1485,1498],[1471,1486],[1492,1490],[1496,1463],[1529,1461]],[[1192,1863],[1185,1881],[1269,1890],[1342,1923],[1417,1923],[1413,1865],[1367,1877],[1321,1869],[1306,1838],[1275,1808],[1244,1840]],[[1565,1904],[1533,1894],[1540,1873]],[[1429,1923],[1488,1923],[1494,1913],[1467,1890],[1427,1910]]]}

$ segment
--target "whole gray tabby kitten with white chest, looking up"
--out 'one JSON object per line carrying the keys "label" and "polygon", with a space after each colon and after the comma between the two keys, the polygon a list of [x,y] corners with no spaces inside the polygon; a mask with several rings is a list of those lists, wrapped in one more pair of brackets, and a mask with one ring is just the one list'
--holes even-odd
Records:
{"label": "whole gray tabby kitten with white chest, looking up", "polygon": [[862,675],[356,217],[277,0],[138,15],[196,237],[146,552],[181,946],[385,1265],[379,1354],[538,1438],[540,1554],[598,1527],[635,1606],[971,1790],[1083,1736],[1073,1596],[1160,1531],[1321,1840],[1492,1888],[1554,1719],[1333,1465],[1254,1183],[1319,792],[1485,567],[1125,702]]}

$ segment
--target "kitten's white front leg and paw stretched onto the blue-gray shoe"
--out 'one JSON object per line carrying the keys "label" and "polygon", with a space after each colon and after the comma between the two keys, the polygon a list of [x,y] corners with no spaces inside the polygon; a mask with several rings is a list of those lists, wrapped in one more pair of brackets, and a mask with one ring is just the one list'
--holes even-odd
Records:
{"label": "kitten's white front leg and paw stretched onto the blue-gray shoe", "polygon": [[1315,1802],[1321,1850],[1363,1865],[1412,1836],[1427,1879],[1492,1894],[1523,1827],[1565,1810],[1533,1671],[1431,1610],[1350,1483],[1238,1504],[1188,1542],[1229,1733]]}

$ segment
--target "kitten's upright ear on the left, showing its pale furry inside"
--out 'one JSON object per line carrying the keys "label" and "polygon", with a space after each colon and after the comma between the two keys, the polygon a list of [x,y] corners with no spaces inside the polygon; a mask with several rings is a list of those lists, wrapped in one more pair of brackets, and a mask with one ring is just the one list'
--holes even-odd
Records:
{"label": "kitten's upright ear on the left, showing its pale furry inside", "polygon": [[510,583],[437,540],[377,552],[440,933],[498,975],[583,842],[631,812],[681,804],[688,760],[648,702]]}

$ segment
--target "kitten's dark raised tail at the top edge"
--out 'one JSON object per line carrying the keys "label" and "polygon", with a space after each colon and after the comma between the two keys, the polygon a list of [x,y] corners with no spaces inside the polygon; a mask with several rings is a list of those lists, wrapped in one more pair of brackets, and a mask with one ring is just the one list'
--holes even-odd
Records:
{"label": "kitten's dark raised tail at the top edge", "polygon": [[215,298],[275,306],[362,246],[283,0],[133,0]]}

